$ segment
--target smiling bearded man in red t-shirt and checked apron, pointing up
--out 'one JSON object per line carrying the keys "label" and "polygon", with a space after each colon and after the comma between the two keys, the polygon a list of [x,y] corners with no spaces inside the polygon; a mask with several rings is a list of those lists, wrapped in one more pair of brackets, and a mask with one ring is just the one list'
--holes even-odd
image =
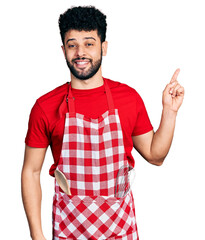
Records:
{"label": "smiling bearded man in red t-shirt and checked apron, pointing up", "polygon": [[179,69],[163,92],[154,133],[138,93],[102,77],[106,16],[94,7],[74,7],[60,16],[59,27],[71,82],[39,98],[31,111],[22,170],[31,237],[45,239],[40,172],[50,145],[50,175],[63,173],[71,192],[55,181],[53,239],[138,239],[132,193],[119,194],[118,176],[123,166],[134,167],[133,146],[151,164],[163,163],[184,97]]}

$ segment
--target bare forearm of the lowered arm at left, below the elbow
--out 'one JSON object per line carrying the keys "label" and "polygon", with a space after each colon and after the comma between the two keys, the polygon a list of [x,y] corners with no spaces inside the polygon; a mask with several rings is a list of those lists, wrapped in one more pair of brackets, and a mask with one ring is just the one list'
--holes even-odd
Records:
{"label": "bare forearm of the lowered arm at left, below the elbow", "polygon": [[22,170],[22,198],[33,240],[45,240],[41,227],[40,173]]}

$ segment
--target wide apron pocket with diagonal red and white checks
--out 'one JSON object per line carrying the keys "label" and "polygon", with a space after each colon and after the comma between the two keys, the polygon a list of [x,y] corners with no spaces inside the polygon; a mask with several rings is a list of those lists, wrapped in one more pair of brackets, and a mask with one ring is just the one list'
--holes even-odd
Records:
{"label": "wide apron pocket with diagonal red and white checks", "polygon": [[106,196],[68,196],[60,193],[58,237],[108,239],[134,230],[133,203],[130,194],[123,199]]}

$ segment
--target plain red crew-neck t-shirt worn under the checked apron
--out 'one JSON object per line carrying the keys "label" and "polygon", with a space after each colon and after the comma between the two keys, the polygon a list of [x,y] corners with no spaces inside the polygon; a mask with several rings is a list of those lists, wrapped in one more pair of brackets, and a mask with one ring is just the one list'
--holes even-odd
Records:
{"label": "plain red crew-neck t-shirt worn under the checked apron", "polygon": [[[123,140],[127,158],[132,165],[134,159],[132,136],[147,133],[153,129],[144,103],[139,94],[126,84],[107,79],[115,108],[118,109],[123,131]],[[30,114],[26,145],[35,148],[46,148],[50,145],[54,164],[50,168],[53,176],[58,164],[65,124],[65,114],[68,111],[65,96],[68,84],[64,84],[40,97]],[[77,113],[90,118],[98,118],[108,110],[104,86],[80,90],[72,89]]]}

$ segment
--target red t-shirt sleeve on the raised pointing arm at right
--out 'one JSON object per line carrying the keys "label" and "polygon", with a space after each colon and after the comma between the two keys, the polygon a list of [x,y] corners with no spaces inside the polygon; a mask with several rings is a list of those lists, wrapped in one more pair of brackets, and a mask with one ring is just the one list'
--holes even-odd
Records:
{"label": "red t-shirt sleeve on the raised pointing arm at right", "polygon": [[142,135],[153,130],[144,102],[138,93],[136,98],[137,118],[132,136]]}

